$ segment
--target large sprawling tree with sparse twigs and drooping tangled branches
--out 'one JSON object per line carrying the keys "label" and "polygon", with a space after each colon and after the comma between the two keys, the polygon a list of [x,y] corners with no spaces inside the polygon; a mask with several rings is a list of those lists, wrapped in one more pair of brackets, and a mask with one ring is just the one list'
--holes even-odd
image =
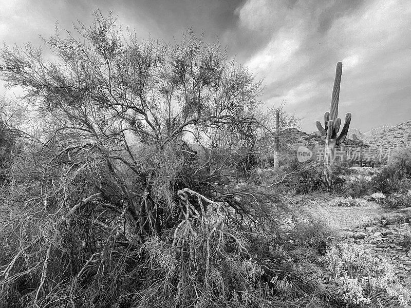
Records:
{"label": "large sprawling tree with sparse twigs and drooping tangled branches", "polygon": [[[279,232],[294,206],[276,183],[235,181],[261,123],[261,83],[192,30],[174,45],[139,42],[99,12],[76,29],[44,40],[54,61],[31,45],[0,56],[3,79],[41,119],[3,189],[14,216],[0,232],[10,243],[0,298],[27,277],[27,305],[226,297],[226,286],[214,292],[218,260],[252,258],[247,238]],[[122,285],[133,275],[145,278]]]}

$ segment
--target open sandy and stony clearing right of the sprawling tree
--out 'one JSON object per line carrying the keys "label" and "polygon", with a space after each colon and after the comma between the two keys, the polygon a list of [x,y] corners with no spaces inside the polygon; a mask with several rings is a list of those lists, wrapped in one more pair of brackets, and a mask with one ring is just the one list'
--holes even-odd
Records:
{"label": "open sandy and stony clearing right of the sprawling tree", "polygon": [[394,213],[382,210],[375,202],[335,207],[329,201],[317,207],[317,214],[340,235],[338,239],[363,244],[377,258],[388,260],[395,266],[402,284],[411,289],[411,251],[403,241],[408,234],[411,245],[411,208],[408,212]]}

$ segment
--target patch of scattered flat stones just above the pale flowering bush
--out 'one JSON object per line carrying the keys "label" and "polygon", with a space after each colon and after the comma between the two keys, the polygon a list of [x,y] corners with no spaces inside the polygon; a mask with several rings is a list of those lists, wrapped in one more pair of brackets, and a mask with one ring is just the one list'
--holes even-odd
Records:
{"label": "patch of scattered flat stones just above the pale flowering bush", "polygon": [[377,258],[389,260],[395,266],[400,281],[411,288],[411,251],[406,245],[407,242],[404,242],[404,237],[408,238],[408,244],[411,245],[409,232],[411,225],[406,222],[346,228],[341,235],[344,241],[363,244],[369,247]]}

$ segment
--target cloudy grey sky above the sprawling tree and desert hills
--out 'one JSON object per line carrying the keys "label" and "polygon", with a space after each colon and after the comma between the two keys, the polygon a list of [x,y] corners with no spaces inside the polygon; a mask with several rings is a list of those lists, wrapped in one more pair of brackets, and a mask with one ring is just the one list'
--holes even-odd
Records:
{"label": "cloudy grey sky above the sprawling tree and desert hills", "polygon": [[[411,2],[279,0],[0,0],[0,41],[40,46],[55,22],[72,30],[97,8],[113,11],[123,28],[177,41],[193,27],[218,37],[231,57],[264,78],[267,106],[287,101],[315,130],[329,110],[335,64],[343,62],[339,116],[367,131],[411,120]],[[0,85],[3,84],[0,82]],[[5,88],[0,94],[10,95]]]}

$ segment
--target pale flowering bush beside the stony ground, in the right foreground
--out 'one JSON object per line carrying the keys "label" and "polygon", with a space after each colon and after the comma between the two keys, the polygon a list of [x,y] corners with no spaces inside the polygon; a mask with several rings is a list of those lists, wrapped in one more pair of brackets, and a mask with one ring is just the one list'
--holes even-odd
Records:
{"label": "pale flowering bush beside the stony ground, in the right foreground", "polygon": [[333,245],[320,258],[327,265],[329,282],[348,307],[404,307],[410,292],[397,283],[394,267],[371,255],[363,245]]}

